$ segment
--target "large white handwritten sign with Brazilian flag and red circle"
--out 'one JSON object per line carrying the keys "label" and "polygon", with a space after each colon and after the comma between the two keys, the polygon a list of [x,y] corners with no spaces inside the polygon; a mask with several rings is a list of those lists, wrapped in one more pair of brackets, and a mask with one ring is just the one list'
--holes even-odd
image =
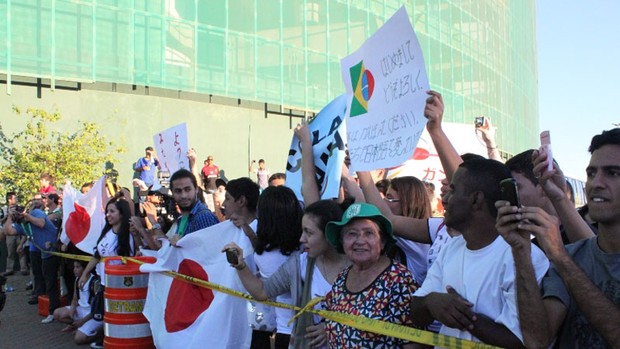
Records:
{"label": "large white handwritten sign with Brazilian flag and red circle", "polygon": [[351,168],[397,166],[411,157],[426,125],[424,57],[404,7],[341,61]]}

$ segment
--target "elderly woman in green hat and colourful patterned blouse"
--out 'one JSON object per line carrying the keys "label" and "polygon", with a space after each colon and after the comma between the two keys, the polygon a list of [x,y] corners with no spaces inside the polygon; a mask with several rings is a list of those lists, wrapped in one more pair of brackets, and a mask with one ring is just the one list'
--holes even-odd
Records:
{"label": "elderly woman in green hat and colourful patterned blouse", "polygon": [[[325,297],[327,309],[411,325],[409,303],[416,290],[407,268],[385,255],[394,243],[392,224],[375,206],[355,203],[342,220],[325,228],[329,242],[352,265],[336,278]],[[330,348],[412,348],[401,339],[327,321]]]}

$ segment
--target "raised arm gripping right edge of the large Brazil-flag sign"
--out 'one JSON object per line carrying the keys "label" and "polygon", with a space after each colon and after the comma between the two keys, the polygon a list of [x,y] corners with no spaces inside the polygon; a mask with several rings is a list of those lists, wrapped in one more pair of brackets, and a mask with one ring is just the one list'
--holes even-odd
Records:
{"label": "raised arm gripping right edge of the large Brazil-flag sign", "polygon": [[444,111],[441,94],[436,91],[428,91],[427,93],[430,97],[426,99],[426,107],[424,108],[424,116],[428,119],[426,130],[433,140],[441,166],[446,173],[446,178],[450,182],[452,181],[452,175],[454,175],[456,169],[463,162],[463,159],[461,159],[461,156],[441,128]]}

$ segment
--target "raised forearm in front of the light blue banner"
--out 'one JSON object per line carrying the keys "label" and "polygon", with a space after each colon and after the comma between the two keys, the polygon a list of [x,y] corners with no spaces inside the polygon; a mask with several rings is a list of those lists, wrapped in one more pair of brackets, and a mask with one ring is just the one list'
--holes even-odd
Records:
{"label": "raised forearm in front of the light blue banner", "polygon": [[319,186],[316,183],[316,171],[314,169],[314,154],[312,153],[312,139],[310,130],[305,121],[295,128],[295,135],[299,139],[301,148],[301,194],[304,204],[307,206],[321,200]]}

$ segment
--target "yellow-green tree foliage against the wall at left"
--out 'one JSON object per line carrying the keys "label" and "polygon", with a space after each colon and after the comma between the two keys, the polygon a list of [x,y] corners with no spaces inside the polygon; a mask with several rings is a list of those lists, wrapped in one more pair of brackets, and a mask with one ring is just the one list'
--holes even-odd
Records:
{"label": "yellow-green tree foliage against the wall at left", "polygon": [[17,191],[22,198],[30,197],[39,189],[41,174],[55,179],[55,187],[62,190],[66,181],[74,186],[92,181],[104,173],[104,163],[112,162],[114,154],[124,150],[115,146],[100,133],[99,125],[78,121],[76,131],[52,130],[62,116],[58,111],[47,112],[17,107],[19,117],[27,117],[26,128],[6,135],[0,125],[0,195]]}

